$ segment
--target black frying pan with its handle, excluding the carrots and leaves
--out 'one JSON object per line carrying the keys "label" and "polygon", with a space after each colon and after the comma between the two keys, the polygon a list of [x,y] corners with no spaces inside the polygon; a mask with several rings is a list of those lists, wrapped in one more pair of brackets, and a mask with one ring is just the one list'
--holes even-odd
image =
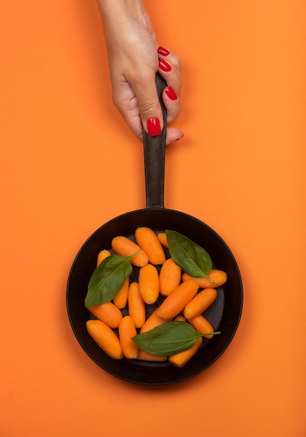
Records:
{"label": "black frying pan with its handle, excluding the carrots and leaves", "polygon": [[[158,97],[166,120],[162,91],[165,81],[156,75]],[[164,207],[166,126],[162,133],[150,137],[144,131],[144,167],[146,183],[146,207],[127,212],[102,225],[86,240],[77,253],[68,276],[66,304],[72,330],[87,355],[102,369],[117,378],[141,385],[167,385],[191,378],[211,366],[227,349],[236,333],[243,309],[243,283],[234,255],[217,233],[197,218]],[[98,252],[112,251],[112,239],[125,235],[135,241],[134,233],[139,226],[147,226],[155,232],[176,230],[203,247],[213,260],[213,267],[227,272],[227,282],[217,289],[217,299],[204,316],[221,334],[204,339],[197,354],[181,369],[169,362],[143,362],[140,360],[113,360],[91,339],[86,331],[86,321],[93,317],[84,306],[89,279],[96,267]],[[168,254],[169,255],[169,254]],[[133,268],[130,282],[137,281],[137,267]],[[161,303],[146,307],[147,316]],[[123,309],[123,315],[128,309]]]}

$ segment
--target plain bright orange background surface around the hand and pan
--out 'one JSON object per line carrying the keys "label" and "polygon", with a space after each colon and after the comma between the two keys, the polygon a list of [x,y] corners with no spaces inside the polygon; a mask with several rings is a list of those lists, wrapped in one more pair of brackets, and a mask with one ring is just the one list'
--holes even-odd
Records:
{"label": "plain bright orange background surface around the hand and pan", "polygon": [[165,205],[234,252],[238,332],[213,366],[166,387],[114,378],[79,347],[68,272],[96,228],[144,207],[141,143],[112,105],[95,0],[6,1],[0,435],[306,436],[305,1],[145,3],[183,64]]}

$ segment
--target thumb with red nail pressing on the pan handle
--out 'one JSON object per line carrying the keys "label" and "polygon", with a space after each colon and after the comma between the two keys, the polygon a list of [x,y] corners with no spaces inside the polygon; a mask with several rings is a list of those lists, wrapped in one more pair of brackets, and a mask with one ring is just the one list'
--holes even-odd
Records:
{"label": "thumb with red nail pressing on the pan handle", "polygon": [[162,131],[164,120],[156,90],[155,73],[138,77],[133,84],[133,89],[144,130],[148,135],[159,135]]}

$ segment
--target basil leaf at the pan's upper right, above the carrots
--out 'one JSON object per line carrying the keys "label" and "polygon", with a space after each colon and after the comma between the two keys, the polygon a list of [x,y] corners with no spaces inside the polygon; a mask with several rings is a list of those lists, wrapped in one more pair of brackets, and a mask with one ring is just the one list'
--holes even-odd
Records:
{"label": "basil leaf at the pan's upper right, above the carrots", "polygon": [[175,230],[166,230],[166,235],[174,262],[194,278],[207,278],[213,262],[206,250]]}

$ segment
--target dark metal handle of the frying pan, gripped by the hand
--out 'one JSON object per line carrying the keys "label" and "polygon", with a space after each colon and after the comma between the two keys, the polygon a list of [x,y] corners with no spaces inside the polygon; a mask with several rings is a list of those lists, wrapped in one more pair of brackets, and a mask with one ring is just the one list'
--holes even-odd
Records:
{"label": "dark metal handle of the frying pan, gripped by the hand", "polygon": [[165,82],[159,73],[156,73],[155,82],[158,91],[158,99],[162,107],[164,124],[160,135],[156,135],[155,137],[151,137],[143,130],[146,208],[164,207],[167,110],[164,103],[162,103],[162,91],[167,87],[167,82]]}

